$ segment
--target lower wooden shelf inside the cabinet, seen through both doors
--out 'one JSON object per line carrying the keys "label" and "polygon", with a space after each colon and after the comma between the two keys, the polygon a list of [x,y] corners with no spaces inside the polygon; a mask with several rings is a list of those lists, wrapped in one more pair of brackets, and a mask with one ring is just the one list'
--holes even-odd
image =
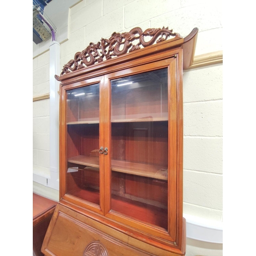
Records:
{"label": "lower wooden shelf inside the cabinet, seen through both doors", "polygon": [[[82,164],[91,167],[99,167],[99,158],[89,156],[76,156],[68,159],[68,162]],[[112,170],[119,173],[132,174],[159,180],[167,180],[167,168],[163,165],[134,163],[129,161],[112,160]]]}

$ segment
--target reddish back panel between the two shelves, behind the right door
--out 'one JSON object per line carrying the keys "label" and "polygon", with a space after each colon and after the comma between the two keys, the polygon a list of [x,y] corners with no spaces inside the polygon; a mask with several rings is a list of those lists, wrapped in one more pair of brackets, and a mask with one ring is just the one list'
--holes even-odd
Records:
{"label": "reddish back panel between the two shelves, behind the right door", "polygon": [[167,166],[168,122],[112,123],[112,159]]}

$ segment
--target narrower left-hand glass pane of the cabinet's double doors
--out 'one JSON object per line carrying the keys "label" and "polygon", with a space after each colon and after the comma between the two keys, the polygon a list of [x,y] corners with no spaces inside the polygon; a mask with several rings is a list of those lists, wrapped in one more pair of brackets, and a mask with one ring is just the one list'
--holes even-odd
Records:
{"label": "narrower left-hand glass pane of the cabinet's double doors", "polygon": [[67,194],[99,205],[99,83],[67,91]]}

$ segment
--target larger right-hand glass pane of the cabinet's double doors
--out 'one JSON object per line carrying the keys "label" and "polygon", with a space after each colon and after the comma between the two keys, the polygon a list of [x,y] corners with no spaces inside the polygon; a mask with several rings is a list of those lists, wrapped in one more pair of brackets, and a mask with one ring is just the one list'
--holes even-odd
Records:
{"label": "larger right-hand glass pane of the cabinet's double doors", "polygon": [[167,229],[167,68],[112,86],[111,209]]}

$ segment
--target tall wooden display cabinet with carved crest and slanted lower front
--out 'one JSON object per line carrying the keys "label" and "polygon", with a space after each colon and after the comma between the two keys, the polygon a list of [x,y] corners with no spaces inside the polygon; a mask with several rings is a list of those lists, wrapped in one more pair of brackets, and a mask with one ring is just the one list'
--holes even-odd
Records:
{"label": "tall wooden display cabinet with carved crest and slanted lower front", "polygon": [[45,255],[185,254],[182,73],[197,33],[113,33],[55,76],[60,202]]}

